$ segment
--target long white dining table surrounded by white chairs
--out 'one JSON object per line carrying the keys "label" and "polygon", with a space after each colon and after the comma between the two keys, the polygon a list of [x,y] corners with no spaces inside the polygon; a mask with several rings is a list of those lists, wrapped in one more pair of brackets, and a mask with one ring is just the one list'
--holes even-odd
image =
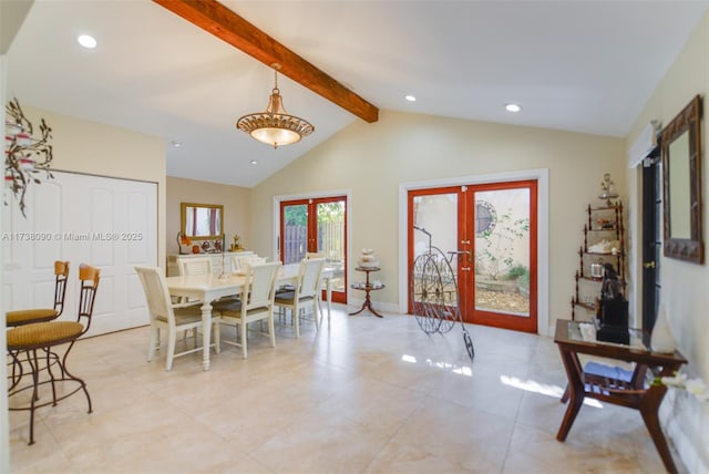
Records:
{"label": "long white dining table surrounded by white chairs", "polygon": [[[298,264],[284,265],[278,272],[277,284],[294,285],[298,277]],[[321,279],[326,286],[326,300],[328,308],[328,320],[330,319],[332,289],[330,278],[335,268],[325,267]],[[209,370],[209,341],[212,340],[212,301],[219,298],[240,295],[244,289],[246,277],[239,272],[227,275],[181,275],[165,278],[169,295],[175,297],[186,297],[199,300],[202,305],[202,364],[204,370]],[[321,308],[320,308],[321,310]],[[218,350],[218,348],[217,348]]]}

